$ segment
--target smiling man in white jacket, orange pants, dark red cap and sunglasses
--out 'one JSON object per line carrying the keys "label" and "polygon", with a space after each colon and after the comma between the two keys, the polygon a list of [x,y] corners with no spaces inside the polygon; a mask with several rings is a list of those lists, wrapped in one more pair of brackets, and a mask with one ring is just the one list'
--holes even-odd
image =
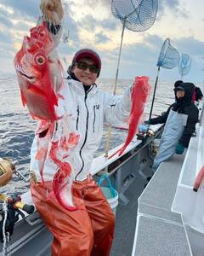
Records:
{"label": "smiling man in white jacket, orange pants, dark red cap and sunglasses", "polygon": [[[60,1],[55,2],[60,4]],[[108,256],[111,250],[115,216],[91,177],[90,166],[99,148],[104,122],[116,124],[126,121],[131,104],[130,89],[124,96],[113,96],[97,88],[95,81],[100,69],[101,60],[96,52],[92,49],[79,50],[69,68],[69,77],[59,91],[56,109],[62,118],[55,121],[54,137],[60,138],[67,117],[69,131],[79,134],[76,147],[69,148],[65,161],[72,167],[72,194],[80,200],[80,209],[69,212],[56,201],[52,181],[58,166],[49,154],[43,166],[45,187],[41,182],[36,158],[37,143],[43,142],[47,131],[36,133],[32,144],[31,170],[36,173],[38,182],[31,184],[31,194],[37,211],[54,235],[53,256]],[[48,143],[52,143],[52,138]]]}

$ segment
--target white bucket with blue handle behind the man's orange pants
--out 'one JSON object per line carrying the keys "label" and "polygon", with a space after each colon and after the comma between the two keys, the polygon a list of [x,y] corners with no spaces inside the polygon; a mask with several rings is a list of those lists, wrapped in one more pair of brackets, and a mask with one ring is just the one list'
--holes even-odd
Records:
{"label": "white bucket with blue handle behind the man's orange pants", "polygon": [[[108,186],[101,186],[101,183],[103,183],[104,180],[107,181]],[[116,189],[114,189],[112,187],[111,181],[110,181],[109,177],[107,177],[106,175],[102,175],[99,178],[98,184],[99,184],[101,191],[105,195],[108,203],[110,204],[112,211],[116,215],[116,207],[118,205],[118,193],[117,193]]]}

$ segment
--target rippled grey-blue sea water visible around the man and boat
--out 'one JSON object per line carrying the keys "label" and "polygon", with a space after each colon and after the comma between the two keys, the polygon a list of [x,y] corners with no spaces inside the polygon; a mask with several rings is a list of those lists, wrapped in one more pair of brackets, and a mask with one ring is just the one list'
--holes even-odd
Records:
{"label": "rippled grey-blue sea water visible around the man and boat", "polygon": [[[98,87],[112,93],[114,79],[99,79]],[[133,80],[119,79],[116,94],[121,95],[123,91],[133,84]],[[150,81],[151,95],[155,81]],[[150,102],[144,109],[144,119],[148,119],[150,113]],[[0,73],[0,157],[8,157],[17,160],[17,170],[28,177],[30,148],[37,121],[31,119],[26,108],[23,108],[20,100],[20,90],[15,74]],[[166,111],[174,101],[173,84],[159,81],[156,90],[156,102],[153,114],[159,115]],[[96,156],[105,152],[105,141],[107,137],[107,126]],[[127,137],[127,131],[112,129],[111,145],[114,148],[123,143]],[[29,183],[23,182],[14,175],[8,185],[0,188],[0,193],[23,193],[26,192]]]}

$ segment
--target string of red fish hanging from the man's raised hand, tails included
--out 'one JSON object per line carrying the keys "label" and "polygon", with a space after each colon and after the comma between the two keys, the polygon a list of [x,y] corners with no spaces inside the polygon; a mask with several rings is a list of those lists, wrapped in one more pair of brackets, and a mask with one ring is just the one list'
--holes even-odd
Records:
{"label": "string of red fish hanging from the man's raised hand, tails included", "polygon": [[[69,131],[69,116],[57,116],[58,102],[64,100],[59,90],[63,84],[63,68],[54,52],[54,41],[45,22],[30,30],[20,51],[15,55],[14,67],[20,85],[23,105],[27,106],[32,119],[40,120],[37,134],[37,154],[35,159],[43,170],[47,159],[53,160],[57,171],[53,179],[53,191],[57,201],[68,211],[77,207],[72,201],[72,167],[66,160],[69,149],[75,147],[79,135]],[[54,53],[53,53],[54,52]],[[56,125],[60,125],[60,135],[54,136]],[[50,146],[51,145],[51,146]]]}

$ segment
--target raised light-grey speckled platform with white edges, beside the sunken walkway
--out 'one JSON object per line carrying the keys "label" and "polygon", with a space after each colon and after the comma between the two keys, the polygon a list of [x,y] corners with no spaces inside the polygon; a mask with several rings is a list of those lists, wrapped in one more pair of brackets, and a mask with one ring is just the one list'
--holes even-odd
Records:
{"label": "raised light-grey speckled platform with white edges, beside the sunken walkway", "polygon": [[183,161],[174,155],[161,164],[139,197],[133,256],[192,255],[181,214],[171,212]]}

